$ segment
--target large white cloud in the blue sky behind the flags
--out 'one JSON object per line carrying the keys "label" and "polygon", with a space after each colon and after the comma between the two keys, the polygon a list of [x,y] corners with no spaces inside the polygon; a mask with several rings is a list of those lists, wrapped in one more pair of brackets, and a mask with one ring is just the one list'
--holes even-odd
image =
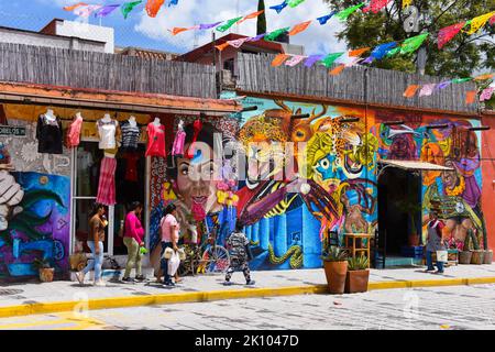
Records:
{"label": "large white cloud in the blue sky behind the flags", "polygon": [[[257,1],[246,3],[248,1],[239,0],[239,15],[245,15],[257,10]],[[338,20],[331,19],[326,25],[320,25],[316,21],[317,18],[330,12],[322,0],[307,0],[297,8],[284,9],[280,14],[268,8],[280,3],[282,0],[267,0],[265,2],[267,31],[314,20],[307,31],[292,36],[290,43],[305,45],[307,54],[345,50],[345,43],[339,43],[337,40],[337,33],[342,29],[342,24]],[[174,26],[188,28],[200,23],[226,21],[235,18],[238,12],[233,0],[197,0],[179,1],[177,7],[164,7],[155,19],[147,16],[144,11],[139,15],[141,16],[140,23],[135,26],[138,32],[187,52],[194,47],[195,36],[198,45],[210,42],[211,31],[189,31],[174,36],[167,30]],[[232,31],[254,36],[256,35],[256,20],[248,20],[241,23],[239,32],[234,25]],[[217,32],[217,37],[224,34],[227,33]]]}

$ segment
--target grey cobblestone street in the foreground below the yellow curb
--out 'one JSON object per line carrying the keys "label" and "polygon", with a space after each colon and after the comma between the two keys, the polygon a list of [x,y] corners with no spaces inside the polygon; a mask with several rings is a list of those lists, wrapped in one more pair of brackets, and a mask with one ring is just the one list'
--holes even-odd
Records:
{"label": "grey cobblestone street in the foreground below the yellow curb", "polygon": [[495,285],[53,314],[0,319],[0,329],[495,330]]}

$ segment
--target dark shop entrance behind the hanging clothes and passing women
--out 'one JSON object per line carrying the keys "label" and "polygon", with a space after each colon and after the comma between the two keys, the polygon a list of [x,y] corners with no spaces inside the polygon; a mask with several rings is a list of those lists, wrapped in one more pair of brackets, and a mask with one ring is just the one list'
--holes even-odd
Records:
{"label": "dark shop entrance behind the hanging clothes and passing women", "polygon": [[[73,169],[73,239],[86,243],[88,240],[88,220],[98,195],[100,165],[103,151],[96,141],[81,141],[74,150]],[[127,248],[119,237],[121,221],[124,220],[130,205],[140,201],[146,206],[146,157],[144,145],[136,151],[121,152],[116,155],[116,200],[117,204],[107,207],[109,224],[106,229],[105,253],[124,255]],[[146,209],[146,208],[145,208]],[[147,223],[147,212],[143,211],[143,226]],[[73,241],[74,243],[74,241]]]}

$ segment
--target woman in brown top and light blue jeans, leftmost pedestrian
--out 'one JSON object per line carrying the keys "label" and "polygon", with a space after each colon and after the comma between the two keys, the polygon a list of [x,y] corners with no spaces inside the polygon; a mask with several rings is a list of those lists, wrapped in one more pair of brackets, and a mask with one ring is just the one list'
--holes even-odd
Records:
{"label": "woman in brown top and light blue jeans, leftmost pedestrian", "polygon": [[92,253],[92,258],[88,261],[88,265],[81,272],[76,274],[77,280],[81,285],[85,282],[86,274],[89,271],[95,270],[95,286],[105,286],[105,282],[101,278],[101,265],[103,264],[105,228],[107,224],[105,206],[95,204],[89,220],[89,235],[87,241]]}

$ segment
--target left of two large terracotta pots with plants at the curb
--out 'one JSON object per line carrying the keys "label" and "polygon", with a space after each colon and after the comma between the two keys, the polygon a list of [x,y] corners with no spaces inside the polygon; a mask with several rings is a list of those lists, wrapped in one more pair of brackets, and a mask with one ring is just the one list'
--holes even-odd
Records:
{"label": "left of two large terracotta pots with plants at the curb", "polygon": [[321,258],[330,294],[343,294],[348,273],[348,251],[333,245],[323,253]]}

